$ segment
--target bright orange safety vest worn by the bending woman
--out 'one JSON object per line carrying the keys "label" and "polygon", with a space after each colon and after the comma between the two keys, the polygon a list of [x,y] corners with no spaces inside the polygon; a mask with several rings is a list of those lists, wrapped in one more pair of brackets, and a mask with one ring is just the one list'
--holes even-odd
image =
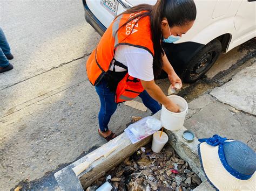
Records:
{"label": "bright orange safety vest worn by the bending woman", "polygon": [[[114,51],[117,46],[135,46],[146,49],[152,56],[154,55],[149,16],[146,16],[139,21],[139,17],[137,17],[119,29],[119,27],[129,18],[136,16],[139,13],[142,12],[124,14],[114,19],[103,34],[102,39],[100,39],[98,46],[89,56],[86,62],[86,71],[88,79],[93,86],[96,86],[110,69],[114,58]],[[144,88],[142,87],[140,80],[127,73],[118,83],[116,103],[132,100],[142,93],[143,90]]]}

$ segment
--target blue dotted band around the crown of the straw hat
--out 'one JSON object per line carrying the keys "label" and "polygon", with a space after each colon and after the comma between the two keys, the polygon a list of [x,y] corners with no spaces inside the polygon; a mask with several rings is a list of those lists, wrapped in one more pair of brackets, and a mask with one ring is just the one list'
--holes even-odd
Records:
{"label": "blue dotted band around the crown of the straw hat", "polygon": [[224,168],[232,176],[234,176],[235,178],[240,179],[240,180],[248,180],[252,177],[253,174],[251,174],[251,175],[241,174],[241,173],[235,171],[235,169],[233,169],[230,165],[227,164],[222,144],[219,145],[218,154],[219,154],[220,161],[223,164]]}

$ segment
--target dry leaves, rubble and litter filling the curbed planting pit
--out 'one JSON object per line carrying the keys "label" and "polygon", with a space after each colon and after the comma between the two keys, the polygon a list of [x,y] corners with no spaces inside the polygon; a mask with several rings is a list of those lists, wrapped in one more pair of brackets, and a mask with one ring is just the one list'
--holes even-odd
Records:
{"label": "dry leaves, rubble and litter filling the curbed planting pit", "polygon": [[201,183],[197,174],[170,145],[165,145],[161,152],[154,153],[151,144],[141,147],[131,157],[93,182],[86,191],[94,191],[106,181],[109,181],[115,191],[190,191]]}

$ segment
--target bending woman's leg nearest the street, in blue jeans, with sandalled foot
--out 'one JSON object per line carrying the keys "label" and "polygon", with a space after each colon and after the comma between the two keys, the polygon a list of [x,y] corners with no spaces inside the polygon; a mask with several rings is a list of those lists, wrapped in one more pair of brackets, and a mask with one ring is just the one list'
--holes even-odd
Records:
{"label": "bending woman's leg nearest the street, in blue jeans, with sandalled foot", "polygon": [[[111,135],[109,131],[108,124],[110,122],[111,116],[117,109],[117,103],[114,101],[115,93],[110,91],[107,87],[107,82],[102,79],[100,83],[95,86],[96,92],[99,95],[100,100],[100,110],[99,110],[99,129],[104,137]],[[112,137],[114,138],[115,135]]]}

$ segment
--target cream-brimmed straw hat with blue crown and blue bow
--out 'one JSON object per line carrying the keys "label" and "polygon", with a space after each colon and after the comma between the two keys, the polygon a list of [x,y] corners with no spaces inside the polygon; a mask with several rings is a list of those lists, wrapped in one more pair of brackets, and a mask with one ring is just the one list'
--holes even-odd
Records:
{"label": "cream-brimmed straw hat with blue crown and blue bow", "polygon": [[246,144],[218,135],[199,139],[206,178],[219,190],[256,190],[256,153]]}

